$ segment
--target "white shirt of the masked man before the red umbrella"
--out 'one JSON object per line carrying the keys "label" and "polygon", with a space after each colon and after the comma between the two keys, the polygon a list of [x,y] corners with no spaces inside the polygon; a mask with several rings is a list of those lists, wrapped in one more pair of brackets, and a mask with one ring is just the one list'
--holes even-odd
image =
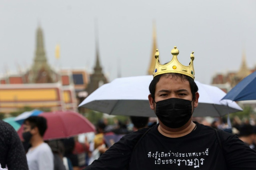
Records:
{"label": "white shirt of the masked man before the red umbrella", "polygon": [[29,170],[54,170],[53,152],[47,143],[30,148],[26,156]]}

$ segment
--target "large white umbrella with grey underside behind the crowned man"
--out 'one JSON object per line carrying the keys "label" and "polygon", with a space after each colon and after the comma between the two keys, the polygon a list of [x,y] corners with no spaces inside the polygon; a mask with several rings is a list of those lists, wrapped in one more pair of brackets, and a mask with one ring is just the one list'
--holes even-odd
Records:
{"label": "large white umbrella with grey underside behind the crowned man", "polygon": [[[152,76],[117,78],[90,94],[79,107],[113,115],[155,117],[149,107],[149,84]],[[215,86],[195,81],[199,88],[199,105],[193,115],[223,116],[242,110],[235,102],[221,101],[225,92]]]}

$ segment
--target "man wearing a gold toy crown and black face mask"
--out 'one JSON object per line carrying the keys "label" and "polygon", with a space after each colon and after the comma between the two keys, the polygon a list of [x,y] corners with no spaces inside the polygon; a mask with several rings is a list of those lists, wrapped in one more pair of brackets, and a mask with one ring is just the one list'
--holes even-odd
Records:
{"label": "man wearing a gold toy crown and black face mask", "polygon": [[255,169],[256,152],[235,135],[192,121],[199,99],[194,55],[190,65],[183,66],[178,49],[171,53],[173,59],[160,65],[157,50],[149,86],[150,108],[159,124],[123,137],[86,169]]}

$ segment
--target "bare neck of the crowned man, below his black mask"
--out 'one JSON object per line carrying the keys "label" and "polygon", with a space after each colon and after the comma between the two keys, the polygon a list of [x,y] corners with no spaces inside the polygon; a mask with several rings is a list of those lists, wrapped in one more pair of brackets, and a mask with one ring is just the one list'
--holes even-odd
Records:
{"label": "bare neck of the crowned man, below his black mask", "polygon": [[168,127],[165,127],[162,124],[159,124],[158,131],[163,136],[176,138],[176,137],[182,137],[182,136],[185,136],[185,135],[189,134],[191,131],[194,130],[195,126],[196,126],[196,124],[192,121],[187,122],[181,128],[175,128],[175,129],[168,128]]}

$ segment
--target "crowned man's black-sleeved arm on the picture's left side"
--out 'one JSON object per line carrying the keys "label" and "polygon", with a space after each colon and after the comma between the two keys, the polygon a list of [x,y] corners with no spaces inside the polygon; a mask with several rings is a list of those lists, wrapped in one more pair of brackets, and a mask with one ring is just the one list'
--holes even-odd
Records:
{"label": "crowned man's black-sleeved arm on the picture's left side", "polygon": [[142,129],[122,137],[119,142],[111,146],[99,159],[86,167],[85,170],[120,170],[126,168],[133,147],[146,130]]}

